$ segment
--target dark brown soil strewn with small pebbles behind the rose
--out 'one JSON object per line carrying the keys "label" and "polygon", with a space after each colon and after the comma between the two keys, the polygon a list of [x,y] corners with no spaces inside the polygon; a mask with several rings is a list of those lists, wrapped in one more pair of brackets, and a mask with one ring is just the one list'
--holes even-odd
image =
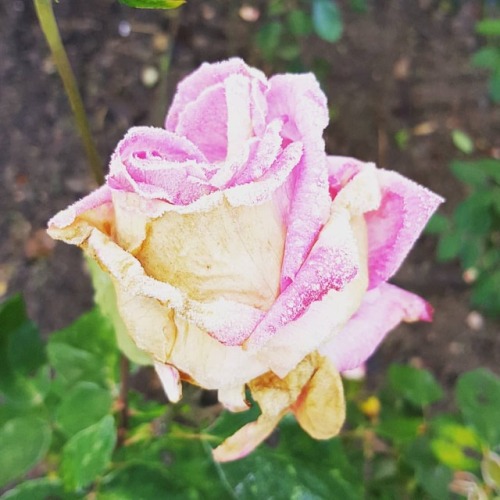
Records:
{"label": "dark brown soil strewn with small pebbles behind the rose", "polygon": [[[466,131],[478,154],[500,151],[500,108],[488,99],[487,75],[470,65],[481,2],[456,9],[433,0],[369,3],[360,14],[344,2],[345,34],[336,45],[304,44],[306,63],[329,63],[328,150],[402,172],[446,197],[443,211],[451,213],[465,192],[449,174],[460,156],[450,131]],[[174,14],[115,0],[55,5],[103,158],[130,126],[161,123],[176,82],[201,62],[239,55],[274,71],[251,42],[260,21],[242,20],[239,1],[188,0]],[[120,35],[123,23],[128,36]],[[146,86],[144,70],[169,55],[166,77]],[[50,332],[90,308],[92,292],[79,250],[52,248],[41,230],[94,183],[29,0],[0,5],[0,82],[0,296],[22,291],[31,317]],[[394,139],[402,129],[410,132],[404,149]],[[460,269],[437,264],[434,251],[434,239],[421,238],[394,280],[434,305],[434,323],[398,328],[371,366],[380,372],[390,361],[411,361],[448,387],[478,366],[500,373],[498,323],[469,316]]]}

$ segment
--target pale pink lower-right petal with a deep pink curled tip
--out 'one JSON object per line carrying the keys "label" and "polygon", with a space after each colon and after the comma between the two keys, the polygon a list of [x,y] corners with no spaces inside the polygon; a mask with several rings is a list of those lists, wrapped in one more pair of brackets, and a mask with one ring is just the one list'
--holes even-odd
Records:
{"label": "pale pink lower-right petal with a deep pink curled tip", "polygon": [[432,308],[418,295],[383,283],[366,293],[359,310],[320,352],[339,371],[362,365],[402,321],[431,321]]}

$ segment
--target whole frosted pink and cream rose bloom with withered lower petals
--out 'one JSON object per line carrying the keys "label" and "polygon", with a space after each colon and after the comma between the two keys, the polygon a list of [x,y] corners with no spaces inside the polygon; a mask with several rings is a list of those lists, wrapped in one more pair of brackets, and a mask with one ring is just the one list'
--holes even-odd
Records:
{"label": "whole frosted pink and cream rose bloom with withered lower petals", "polygon": [[401,321],[429,321],[387,283],[441,199],[372,163],[327,156],[311,74],[269,80],[240,59],[203,64],[165,128],[135,127],[106,184],[49,222],[111,276],[135,344],[167,395],[181,380],[260,417],[214,450],[252,451],[293,412],[318,439],[345,418],[339,372]]}

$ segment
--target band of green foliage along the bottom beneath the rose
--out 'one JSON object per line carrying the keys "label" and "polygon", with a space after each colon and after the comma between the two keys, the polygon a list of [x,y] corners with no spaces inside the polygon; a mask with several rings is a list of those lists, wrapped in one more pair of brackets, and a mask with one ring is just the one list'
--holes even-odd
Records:
{"label": "band of green foliage along the bottom beneath the rose", "polygon": [[[375,395],[346,382],[339,437],[316,441],[288,416],[253,453],[216,464],[212,448],[255,420],[256,405],[207,426],[189,423],[194,407],[167,408],[130,391],[117,446],[119,350],[109,320],[94,310],[44,344],[14,297],[0,305],[0,321],[6,380],[43,386],[17,399],[7,397],[8,383],[1,386],[0,487],[10,486],[2,500],[442,500],[452,498],[450,487],[499,494],[500,379],[486,370],[459,378],[458,411],[443,414],[433,411],[443,390],[428,371],[393,365]],[[15,335],[24,339],[28,330],[30,360],[15,348]]]}

